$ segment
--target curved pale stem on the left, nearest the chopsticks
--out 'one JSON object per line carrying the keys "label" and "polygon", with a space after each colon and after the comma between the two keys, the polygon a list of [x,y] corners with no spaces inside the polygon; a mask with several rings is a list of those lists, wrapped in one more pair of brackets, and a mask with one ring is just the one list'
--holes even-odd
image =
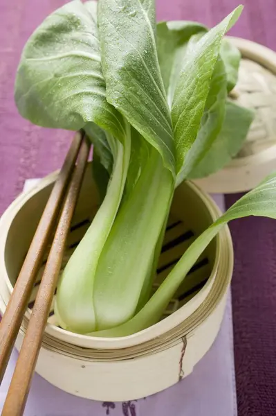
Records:
{"label": "curved pale stem on the left, nearest the chopsticks", "polygon": [[130,137],[128,139],[125,146],[120,141],[115,142],[116,157],[107,195],[59,281],[55,313],[62,327],[71,331],[95,330],[95,270],[122,199],[131,147]]}

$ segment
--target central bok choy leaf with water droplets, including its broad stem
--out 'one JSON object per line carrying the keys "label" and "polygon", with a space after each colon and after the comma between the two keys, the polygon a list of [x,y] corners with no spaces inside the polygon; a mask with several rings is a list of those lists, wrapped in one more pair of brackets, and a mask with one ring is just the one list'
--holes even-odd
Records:
{"label": "central bok choy leaf with water droplets, including its broad stem", "polygon": [[[156,245],[174,191],[175,159],[158,65],[154,2],[101,0],[98,17],[107,100],[140,133],[132,144],[126,193],[95,272],[93,303],[101,329],[131,318],[145,281],[151,281]],[[137,160],[139,149],[147,151],[146,159]]]}

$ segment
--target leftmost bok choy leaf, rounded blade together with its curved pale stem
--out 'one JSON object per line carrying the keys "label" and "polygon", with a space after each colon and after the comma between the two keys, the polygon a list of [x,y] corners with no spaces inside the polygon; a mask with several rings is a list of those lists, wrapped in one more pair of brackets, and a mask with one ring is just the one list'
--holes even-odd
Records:
{"label": "leftmost bok choy leaf, rounded blade together with its curved pale stem", "polygon": [[[84,128],[111,173],[104,201],[59,281],[56,313],[73,328],[77,322],[80,331],[95,327],[95,268],[120,206],[131,151],[131,127],[106,100],[96,12],[94,1],[78,0],[53,12],[26,44],[15,85],[23,116],[50,128]],[[63,306],[73,294],[68,311]]]}

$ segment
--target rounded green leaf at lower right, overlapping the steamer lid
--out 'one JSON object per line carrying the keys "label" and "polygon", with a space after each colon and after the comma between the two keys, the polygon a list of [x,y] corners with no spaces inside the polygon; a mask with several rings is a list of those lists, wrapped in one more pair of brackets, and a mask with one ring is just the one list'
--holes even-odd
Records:
{"label": "rounded green leaf at lower right, overlapping the steamer lid", "polygon": [[205,177],[219,171],[237,155],[246,139],[254,113],[228,101],[221,132],[213,141],[208,153],[188,175],[188,179]]}

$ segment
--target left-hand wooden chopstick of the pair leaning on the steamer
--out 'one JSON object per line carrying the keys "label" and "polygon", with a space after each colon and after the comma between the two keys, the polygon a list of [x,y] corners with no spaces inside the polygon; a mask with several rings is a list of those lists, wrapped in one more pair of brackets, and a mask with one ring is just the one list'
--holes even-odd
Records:
{"label": "left-hand wooden chopstick of the pair leaning on the steamer", "polygon": [[77,132],[71,148],[68,150],[57,181],[50,193],[50,197],[39,221],[39,225],[30,244],[28,254],[19,272],[10,302],[0,322],[0,383],[5,374],[12,347],[19,331],[30,294],[35,283],[35,277],[42,263],[48,240],[59,214],[68,182],[75,167],[77,155],[82,144],[83,135]]}

